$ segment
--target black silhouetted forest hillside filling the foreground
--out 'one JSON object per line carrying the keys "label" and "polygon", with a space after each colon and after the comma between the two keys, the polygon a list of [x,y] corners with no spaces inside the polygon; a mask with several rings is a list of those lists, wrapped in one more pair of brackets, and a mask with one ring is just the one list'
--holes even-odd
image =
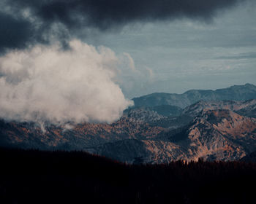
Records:
{"label": "black silhouetted forest hillside filling the foreground", "polygon": [[126,165],[17,149],[0,149],[0,162],[0,203],[255,203],[255,163]]}

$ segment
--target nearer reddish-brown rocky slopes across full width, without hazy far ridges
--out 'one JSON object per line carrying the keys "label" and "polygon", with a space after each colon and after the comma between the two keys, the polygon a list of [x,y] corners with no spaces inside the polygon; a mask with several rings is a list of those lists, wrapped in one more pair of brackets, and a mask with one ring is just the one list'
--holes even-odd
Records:
{"label": "nearer reddish-brown rocky slopes across full width, without hazy far ridges", "polygon": [[240,160],[256,149],[256,119],[230,110],[203,110],[178,129],[123,117],[108,124],[83,124],[70,130],[1,121],[1,144],[38,149],[83,149],[123,162]]}

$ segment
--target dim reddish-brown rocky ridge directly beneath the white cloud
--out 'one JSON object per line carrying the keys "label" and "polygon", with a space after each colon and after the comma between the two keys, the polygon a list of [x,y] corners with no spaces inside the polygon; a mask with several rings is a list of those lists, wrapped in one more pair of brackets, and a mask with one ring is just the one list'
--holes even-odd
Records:
{"label": "dim reddish-brown rocky ridge directly beneath the white cloud", "polygon": [[122,117],[112,124],[85,123],[71,128],[49,125],[42,129],[35,123],[0,121],[1,146],[36,149],[84,150],[107,142],[124,139],[154,138],[162,127]]}

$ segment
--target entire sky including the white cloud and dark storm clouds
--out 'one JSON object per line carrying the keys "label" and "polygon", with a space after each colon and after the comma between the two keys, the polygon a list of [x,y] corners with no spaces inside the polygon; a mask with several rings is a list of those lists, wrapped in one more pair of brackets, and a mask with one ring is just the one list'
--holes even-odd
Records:
{"label": "entire sky including the white cloud and dark storm clouds", "polygon": [[0,25],[7,119],[111,122],[140,95],[255,84],[254,0],[2,0]]}

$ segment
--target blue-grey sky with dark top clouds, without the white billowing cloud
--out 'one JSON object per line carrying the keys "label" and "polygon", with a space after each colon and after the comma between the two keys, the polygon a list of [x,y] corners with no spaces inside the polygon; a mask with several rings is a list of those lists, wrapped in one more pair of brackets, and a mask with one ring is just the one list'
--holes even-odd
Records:
{"label": "blue-grey sky with dark top clouds, without the white billowing cloud", "polygon": [[[255,83],[254,0],[4,0],[0,52],[79,39],[126,60],[127,98]],[[1,73],[0,73],[1,74]]]}

